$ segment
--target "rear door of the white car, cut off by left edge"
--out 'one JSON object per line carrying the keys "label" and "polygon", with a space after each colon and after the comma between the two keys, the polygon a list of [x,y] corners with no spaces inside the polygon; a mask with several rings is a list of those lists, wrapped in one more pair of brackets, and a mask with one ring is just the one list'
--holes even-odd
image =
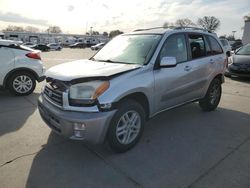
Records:
{"label": "rear door of the white car, cut off by left edge", "polygon": [[15,60],[12,50],[0,45],[0,85],[3,85],[5,76],[14,68]]}

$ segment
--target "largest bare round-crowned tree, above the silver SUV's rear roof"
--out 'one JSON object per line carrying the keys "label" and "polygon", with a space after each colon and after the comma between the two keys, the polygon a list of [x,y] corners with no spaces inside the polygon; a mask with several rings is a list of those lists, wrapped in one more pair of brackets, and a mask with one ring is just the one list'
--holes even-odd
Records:
{"label": "largest bare round-crowned tree, above the silver SUV's rear roof", "polygon": [[203,18],[198,18],[197,25],[213,32],[219,28],[220,20],[214,16],[204,16]]}

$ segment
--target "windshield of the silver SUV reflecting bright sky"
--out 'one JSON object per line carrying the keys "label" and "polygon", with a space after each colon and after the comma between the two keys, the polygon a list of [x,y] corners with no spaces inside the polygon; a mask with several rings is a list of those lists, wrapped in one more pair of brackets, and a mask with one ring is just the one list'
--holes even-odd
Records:
{"label": "windshield of the silver SUV reflecting bright sky", "polygon": [[146,64],[161,35],[121,35],[107,43],[92,59],[126,64]]}

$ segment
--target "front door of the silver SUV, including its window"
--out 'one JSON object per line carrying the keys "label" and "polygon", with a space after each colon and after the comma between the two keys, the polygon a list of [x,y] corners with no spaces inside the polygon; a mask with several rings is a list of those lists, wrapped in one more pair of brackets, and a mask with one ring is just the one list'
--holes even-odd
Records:
{"label": "front door of the silver SUV, including its window", "polygon": [[190,83],[194,79],[193,62],[189,61],[185,34],[174,34],[167,38],[157,58],[156,65],[162,57],[175,57],[175,67],[159,67],[154,70],[155,78],[155,111],[159,112],[188,100],[193,96]]}

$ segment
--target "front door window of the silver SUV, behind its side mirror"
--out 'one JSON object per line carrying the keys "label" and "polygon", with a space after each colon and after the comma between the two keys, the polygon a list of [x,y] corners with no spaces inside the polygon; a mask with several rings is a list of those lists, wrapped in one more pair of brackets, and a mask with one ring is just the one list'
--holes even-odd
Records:
{"label": "front door window of the silver SUV, behind its side mirror", "polygon": [[162,57],[175,57],[177,63],[187,61],[187,46],[185,36],[183,34],[170,36],[160,52]]}

